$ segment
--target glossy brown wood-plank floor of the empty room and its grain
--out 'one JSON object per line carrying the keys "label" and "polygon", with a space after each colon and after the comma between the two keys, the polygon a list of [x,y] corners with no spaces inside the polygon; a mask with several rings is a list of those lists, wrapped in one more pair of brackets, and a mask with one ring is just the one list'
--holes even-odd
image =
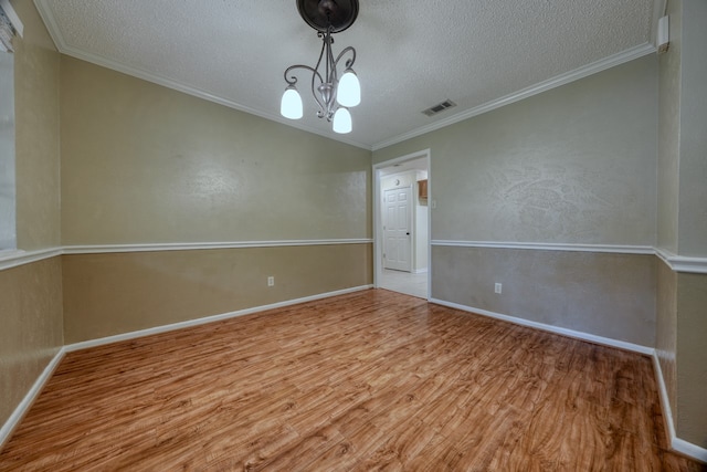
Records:
{"label": "glossy brown wood-plank floor of the empty room and its grain", "polygon": [[698,471],[651,360],[370,290],[68,354],[0,470]]}

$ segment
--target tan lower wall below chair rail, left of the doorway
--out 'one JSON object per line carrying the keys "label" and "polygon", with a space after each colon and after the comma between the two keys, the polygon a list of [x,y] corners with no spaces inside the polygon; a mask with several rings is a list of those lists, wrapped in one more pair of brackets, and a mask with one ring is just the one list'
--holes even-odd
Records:
{"label": "tan lower wall below chair rail, left of the doorway", "polygon": [[371,244],[63,258],[66,344],[372,283]]}

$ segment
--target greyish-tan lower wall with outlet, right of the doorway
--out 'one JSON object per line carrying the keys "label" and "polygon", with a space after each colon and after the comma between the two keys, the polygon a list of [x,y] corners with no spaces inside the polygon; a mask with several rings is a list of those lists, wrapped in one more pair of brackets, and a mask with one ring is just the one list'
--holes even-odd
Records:
{"label": "greyish-tan lower wall with outlet, right of the doorway", "polygon": [[[432,248],[432,296],[611,339],[655,345],[655,256]],[[494,293],[494,283],[503,293]]]}

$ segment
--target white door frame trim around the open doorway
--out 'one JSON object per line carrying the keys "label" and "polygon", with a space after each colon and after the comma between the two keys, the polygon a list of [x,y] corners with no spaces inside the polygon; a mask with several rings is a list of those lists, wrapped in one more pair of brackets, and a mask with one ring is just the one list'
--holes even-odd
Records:
{"label": "white door frame trim around the open doorway", "polygon": [[[422,149],[415,153],[407,154],[394,159],[384,160],[373,164],[373,286],[380,287],[380,281],[383,271],[383,224],[381,216],[381,190],[380,190],[380,171],[395,164],[402,164],[407,160],[419,159],[421,157],[428,160],[428,195],[432,195],[432,179],[430,168],[430,149]],[[414,191],[414,187],[413,187]],[[428,300],[432,295],[432,206],[433,200],[428,200]],[[414,209],[413,209],[414,211]]]}

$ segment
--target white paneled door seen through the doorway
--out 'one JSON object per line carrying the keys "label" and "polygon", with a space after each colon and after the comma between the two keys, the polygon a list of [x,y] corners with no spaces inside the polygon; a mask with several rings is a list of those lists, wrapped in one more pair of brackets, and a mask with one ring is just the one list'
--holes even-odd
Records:
{"label": "white paneled door seen through the doorway", "polygon": [[383,196],[383,261],[386,269],[412,272],[412,189],[386,190]]}

